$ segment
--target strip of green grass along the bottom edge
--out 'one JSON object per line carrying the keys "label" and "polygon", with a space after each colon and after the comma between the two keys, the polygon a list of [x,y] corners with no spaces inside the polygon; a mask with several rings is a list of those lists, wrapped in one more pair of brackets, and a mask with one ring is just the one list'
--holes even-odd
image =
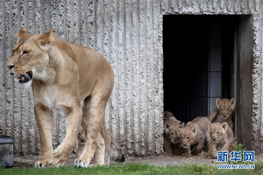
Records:
{"label": "strip of green grass along the bottom edge", "polygon": [[200,164],[193,164],[193,165],[182,165],[182,166],[167,166],[167,167],[157,167],[148,164],[135,164],[129,163],[124,165],[115,165],[115,166],[102,166],[102,167],[95,167],[95,168],[77,168],[77,167],[60,167],[60,168],[45,168],[45,169],[37,169],[37,168],[3,168],[0,167],[0,174],[122,174],[122,175],[130,175],[130,174],[263,174],[263,162],[257,161],[255,162],[255,169],[229,169],[229,170],[219,170],[217,169],[216,165],[200,165]]}

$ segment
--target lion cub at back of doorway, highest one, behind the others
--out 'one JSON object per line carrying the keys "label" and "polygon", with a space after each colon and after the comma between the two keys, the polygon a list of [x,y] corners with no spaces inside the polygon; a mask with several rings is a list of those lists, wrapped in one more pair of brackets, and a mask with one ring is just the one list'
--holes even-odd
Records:
{"label": "lion cub at back of doorway, highest one, behind the others", "polygon": [[228,126],[233,130],[233,111],[235,109],[236,100],[235,98],[231,98],[230,100],[227,98],[216,98],[217,108],[214,112],[207,116],[212,123],[214,122],[227,122]]}

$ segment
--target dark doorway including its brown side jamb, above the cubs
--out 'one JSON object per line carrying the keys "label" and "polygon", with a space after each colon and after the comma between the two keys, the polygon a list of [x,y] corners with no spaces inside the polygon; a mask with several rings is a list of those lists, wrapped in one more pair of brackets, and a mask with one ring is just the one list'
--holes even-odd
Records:
{"label": "dark doorway including its brown side jamb, above the cubs", "polygon": [[163,16],[164,110],[189,122],[210,115],[217,97],[234,97],[236,139],[248,150],[252,149],[252,26],[251,15]]}

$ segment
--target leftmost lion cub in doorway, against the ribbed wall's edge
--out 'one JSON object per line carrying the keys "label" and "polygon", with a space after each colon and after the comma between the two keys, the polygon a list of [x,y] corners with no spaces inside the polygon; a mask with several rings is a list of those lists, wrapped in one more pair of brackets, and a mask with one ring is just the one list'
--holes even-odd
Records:
{"label": "leftmost lion cub in doorway, against the ribbed wall's edge", "polygon": [[184,123],[177,120],[174,115],[169,111],[163,112],[163,149],[165,155],[172,155],[172,148],[170,143],[179,143],[180,140],[177,136],[177,126],[184,127]]}

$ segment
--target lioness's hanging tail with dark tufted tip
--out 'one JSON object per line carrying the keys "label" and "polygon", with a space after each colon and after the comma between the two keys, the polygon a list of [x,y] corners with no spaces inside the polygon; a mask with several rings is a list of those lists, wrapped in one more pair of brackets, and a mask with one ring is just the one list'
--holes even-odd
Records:
{"label": "lioness's hanging tail with dark tufted tip", "polygon": [[[109,139],[108,139],[108,133],[105,127],[105,119],[103,119],[103,124],[101,125],[101,132],[104,137],[105,141],[105,147],[110,155],[110,158],[112,158],[115,162],[125,162],[125,157],[122,153],[115,151],[112,149]],[[112,139],[113,140],[113,139]]]}

